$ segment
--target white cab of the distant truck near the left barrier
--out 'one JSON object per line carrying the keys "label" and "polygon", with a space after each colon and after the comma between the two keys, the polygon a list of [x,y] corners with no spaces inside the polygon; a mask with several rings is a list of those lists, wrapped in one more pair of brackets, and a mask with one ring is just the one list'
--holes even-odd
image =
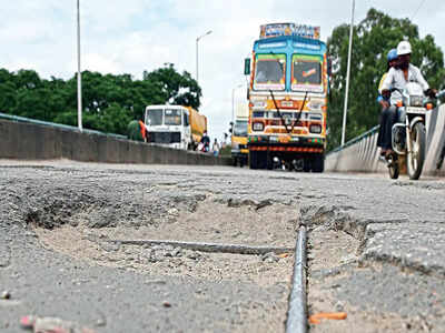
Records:
{"label": "white cab of the distant truck near the left barrier", "polygon": [[145,124],[147,142],[180,143],[184,129],[189,127],[189,111],[181,107],[147,107]]}

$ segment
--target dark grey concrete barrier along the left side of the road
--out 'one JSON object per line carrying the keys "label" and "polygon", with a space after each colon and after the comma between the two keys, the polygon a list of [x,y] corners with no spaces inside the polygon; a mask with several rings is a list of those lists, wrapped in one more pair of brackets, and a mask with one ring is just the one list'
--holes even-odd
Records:
{"label": "dark grey concrete barrier along the left side of the road", "polygon": [[127,140],[126,137],[0,113],[0,159],[231,165],[230,158]]}

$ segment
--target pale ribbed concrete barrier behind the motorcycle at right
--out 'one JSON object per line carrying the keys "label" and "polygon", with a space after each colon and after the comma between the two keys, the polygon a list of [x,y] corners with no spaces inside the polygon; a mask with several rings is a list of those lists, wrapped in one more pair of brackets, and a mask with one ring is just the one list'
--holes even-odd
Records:
{"label": "pale ribbed concrete barrier behind the motorcycle at right", "polygon": [[[326,171],[336,172],[387,172],[378,160],[378,127],[350,140],[326,155]],[[422,174],[445,175],[445,163],[437,169],[445,145],[445,105],[432,110],[426,117],[426,160]]]}

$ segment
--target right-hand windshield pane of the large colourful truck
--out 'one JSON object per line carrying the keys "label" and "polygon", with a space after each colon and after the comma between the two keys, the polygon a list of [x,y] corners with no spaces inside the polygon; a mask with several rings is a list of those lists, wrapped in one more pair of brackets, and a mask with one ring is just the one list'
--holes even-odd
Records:
{"label": "right-hand windshield pane of the large colourful truck", "polygon": [[294,54],[291,90],[323,92],[322,69],[322,57]]}

